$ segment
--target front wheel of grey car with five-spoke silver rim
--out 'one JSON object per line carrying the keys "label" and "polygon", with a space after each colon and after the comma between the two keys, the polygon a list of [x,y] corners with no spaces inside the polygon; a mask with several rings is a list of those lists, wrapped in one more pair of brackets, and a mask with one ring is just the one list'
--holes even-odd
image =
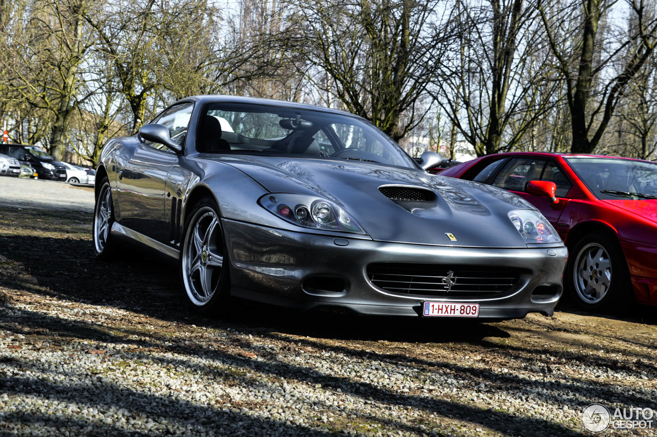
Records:
{"label": "front wheel of grey car with five-spoke silver rim", "polygon": [[180,255],[181,283],[194,311],[223,315],[230,296],[229,264],[219,207],[205,197],[185,223]]}

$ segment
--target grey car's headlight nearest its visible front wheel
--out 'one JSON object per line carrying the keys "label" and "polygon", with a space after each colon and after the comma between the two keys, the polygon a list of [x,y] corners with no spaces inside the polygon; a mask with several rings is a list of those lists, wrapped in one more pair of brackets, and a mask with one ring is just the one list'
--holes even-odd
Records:
{"label": "grey car's headlight nearest its visible front wheel", "polygon": [[272,193],[262,196],[258,203],[275,216],[298,226],[365,234],[345,210],[321,197]]}

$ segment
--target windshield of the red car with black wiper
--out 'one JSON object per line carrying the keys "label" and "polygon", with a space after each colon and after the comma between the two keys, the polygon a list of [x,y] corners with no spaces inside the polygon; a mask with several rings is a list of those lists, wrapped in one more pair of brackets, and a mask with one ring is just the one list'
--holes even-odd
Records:
{"label": "windshield of the red car with black wiper", "polygon": [[602,200],[657,198],[657,164],[619,158],[564,156],[579,179]]}

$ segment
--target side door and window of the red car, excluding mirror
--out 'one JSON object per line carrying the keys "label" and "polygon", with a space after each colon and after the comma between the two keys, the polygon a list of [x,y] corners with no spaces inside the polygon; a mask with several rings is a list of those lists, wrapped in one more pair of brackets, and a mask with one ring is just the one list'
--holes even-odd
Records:
{"label": "side door and window of the red car, excluding mirror", "polygon": [[[550,181],[556,184],[556,204],[549,198],[527,193],[529,181]],[[572,182],[558,164],[550,159],[533,157],[511,158],[489,182],[491,185],[512,191],[539,209],[543,216],[558,230],[558,221],[566,204]]]}

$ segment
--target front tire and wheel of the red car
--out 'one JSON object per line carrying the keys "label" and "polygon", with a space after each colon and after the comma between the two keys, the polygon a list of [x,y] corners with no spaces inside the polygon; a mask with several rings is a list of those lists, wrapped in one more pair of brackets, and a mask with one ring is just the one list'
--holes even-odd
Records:
{"label": "front tire and wheel of the red car", "polygon": [[629,269],[614,235],[583,235],[569,247],[566,285],[572,302],[586,311],[625,312],[633,302]]}

